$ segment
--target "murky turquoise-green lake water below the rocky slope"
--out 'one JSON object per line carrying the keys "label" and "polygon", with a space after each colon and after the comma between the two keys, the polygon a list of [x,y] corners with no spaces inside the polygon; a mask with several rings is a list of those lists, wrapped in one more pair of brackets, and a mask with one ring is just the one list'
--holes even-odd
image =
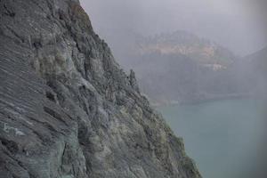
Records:
{"label": "murky turquoise-green lake water below the rocky slope", "polygon": [[266,109],[248,99],[158,108],[204,178],[245,177],[263,141]]}

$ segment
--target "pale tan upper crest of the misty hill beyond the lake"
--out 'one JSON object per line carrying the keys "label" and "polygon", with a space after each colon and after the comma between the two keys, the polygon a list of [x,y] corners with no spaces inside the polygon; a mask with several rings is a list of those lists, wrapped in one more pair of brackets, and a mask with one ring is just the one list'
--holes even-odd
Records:
{"label": "pale tan upper crest of the misty hill beyond the lake", "polygon": [[222,46],[181,30],[140,38],[135,46],[135,52],[142,55],[150,53],[186,55],[203,65],[217,64],[222,68],[231,64],[236,58]]}

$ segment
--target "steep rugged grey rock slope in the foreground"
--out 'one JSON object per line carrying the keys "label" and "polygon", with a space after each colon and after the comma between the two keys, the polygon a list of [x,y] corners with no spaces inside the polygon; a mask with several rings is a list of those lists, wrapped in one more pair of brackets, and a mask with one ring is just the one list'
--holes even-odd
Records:
{"label": "steep rugged grey rock slope in the foreground", "polygon": [[0,177],[200,175],[77,0],[1,0]]}

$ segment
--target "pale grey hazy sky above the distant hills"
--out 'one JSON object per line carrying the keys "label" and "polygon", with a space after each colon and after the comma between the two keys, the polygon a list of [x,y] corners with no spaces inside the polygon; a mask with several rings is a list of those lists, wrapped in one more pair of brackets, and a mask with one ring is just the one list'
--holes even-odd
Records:
{"label": "pale grey hazy sky above the distant hills", "polygon": [[267,45],[265,0],[80,0],[100,35],[190,31],[246,55]]}

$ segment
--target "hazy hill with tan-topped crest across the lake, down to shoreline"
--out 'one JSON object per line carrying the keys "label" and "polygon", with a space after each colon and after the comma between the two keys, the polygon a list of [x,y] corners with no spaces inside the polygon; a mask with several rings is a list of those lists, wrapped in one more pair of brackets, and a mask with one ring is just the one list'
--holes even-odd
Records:
{"label": "hazy hill with tan-topped crest across the lake, down to shoreline", "polygon": [[[156,104],[239,96],[229,50],[184,31],[140,37],[122,62]],[[131,60],[128,60],[131,59]],[[160,81],[160,82],[159,82]]]}

